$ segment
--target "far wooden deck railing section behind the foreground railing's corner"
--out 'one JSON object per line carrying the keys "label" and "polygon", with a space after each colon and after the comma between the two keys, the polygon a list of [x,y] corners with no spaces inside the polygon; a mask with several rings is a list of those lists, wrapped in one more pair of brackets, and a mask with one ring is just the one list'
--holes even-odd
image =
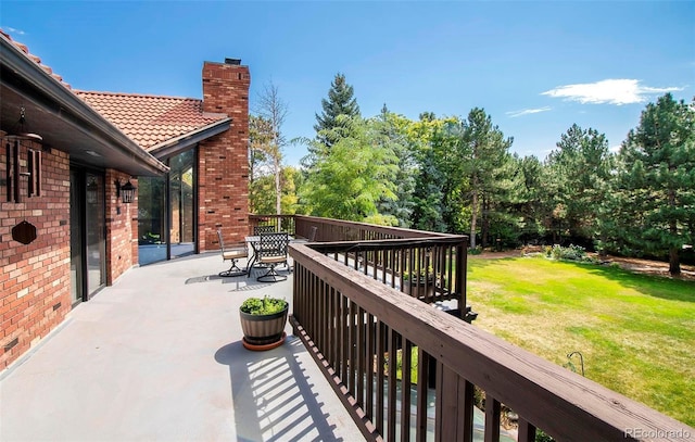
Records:
{"label": "far wooden deck railing section behind the foreground railing's corner", "polygon": [[[477,314],[466,304],[467,237],[303,215],[252,215],[250,230],[269,226],[308,238],[314,249],[425,303],[439,303],[467,321]],[[456,257],[460,258],[456,258]],[[442,304],[444,301],[455,304]]]}

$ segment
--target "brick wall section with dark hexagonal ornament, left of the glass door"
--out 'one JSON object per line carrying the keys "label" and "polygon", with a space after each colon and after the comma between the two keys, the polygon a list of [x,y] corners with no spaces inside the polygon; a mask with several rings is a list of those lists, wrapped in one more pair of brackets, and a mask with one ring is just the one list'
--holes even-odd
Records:
{"label": "brick wall section with dark hexagonal ornament, left of the glass door", "polygon": [[[26,197],[25,179],[22,202],[7,202],[5,187],[0,186],[0,370],[55,328],[71,310],[70,159],[56,149],[41,156],[40,197]],[[26,148],[22,148],[22,157],[26,157]],[[1,149],[2,177],[7,163]],[[37,239],[26,245],[12,239],[12,228],[23,220],[37,229]]]}

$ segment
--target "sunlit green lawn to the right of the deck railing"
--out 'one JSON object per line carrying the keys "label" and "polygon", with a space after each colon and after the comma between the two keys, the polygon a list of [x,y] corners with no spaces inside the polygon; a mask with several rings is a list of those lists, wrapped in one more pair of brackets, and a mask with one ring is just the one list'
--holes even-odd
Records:
{"label": "sunlit green lawn to the right of the deck railing", "polygon": [[[473,325],[695,427],[695,282],[544,257],[468,260]],[[579,359],[572,358],[579,369]]]}

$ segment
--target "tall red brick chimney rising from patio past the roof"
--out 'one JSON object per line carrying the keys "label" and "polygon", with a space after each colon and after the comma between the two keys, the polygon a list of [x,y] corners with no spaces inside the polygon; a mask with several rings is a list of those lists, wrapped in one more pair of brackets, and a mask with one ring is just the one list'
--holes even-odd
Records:
{"label": "tall red brick chimney rising from patio past the roof", "polygon": [[203,112],[231,117],[231,127],[200,143],[200,251],[217,250],[217,229],[226,242],[249,232],[249,66],[241,60],[203,64]]}

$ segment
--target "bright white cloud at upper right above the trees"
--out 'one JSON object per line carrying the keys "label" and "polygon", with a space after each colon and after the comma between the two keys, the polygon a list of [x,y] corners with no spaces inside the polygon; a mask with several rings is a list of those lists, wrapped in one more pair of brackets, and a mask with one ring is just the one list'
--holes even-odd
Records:
{"label": "bright white cloud at upper right above the trees", "polygon": [[596,83],[559,86],[541,93],[554,98],[579,101],[582,104],[632,104],[647,101],[648,96],[673,92],[683,88],[655,88],[640,85],[636,79],[604,79]]}

